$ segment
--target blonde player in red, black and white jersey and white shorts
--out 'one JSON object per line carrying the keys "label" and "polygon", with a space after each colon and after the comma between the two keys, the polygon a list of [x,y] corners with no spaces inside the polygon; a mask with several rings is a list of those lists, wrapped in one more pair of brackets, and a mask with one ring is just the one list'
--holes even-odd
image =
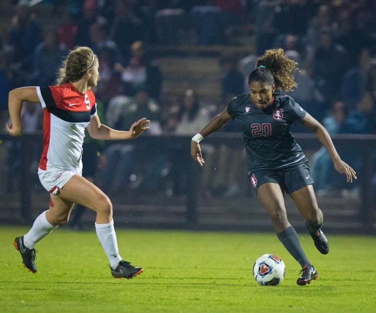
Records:
{"label": "blonde player in red, black and white jersey and white shorts", "polygon": [[9,93],[11,121],[6,127],[12,136],[22,135],[24,101],[41,103],[44,109],[43,152],[38,174],[43,187],[50,193],[49,209],[14,242],[24,266],[33,273],[37,271],[35,244],[69,220],[75,203],[96,212],[96,234],[110,261],[112,275],[129,279],[143,271],[120,257],[112,203],[106,194],[82,177],[81,156],[85,128],[94,139],[134,139],[149,128],[150,120],[136,121],[129,131],[118,131],[101,124],[91,90],[97,84],[98,67],[93,51],[88,47],[78,47],[64,61],[56,86],[23,87]]}

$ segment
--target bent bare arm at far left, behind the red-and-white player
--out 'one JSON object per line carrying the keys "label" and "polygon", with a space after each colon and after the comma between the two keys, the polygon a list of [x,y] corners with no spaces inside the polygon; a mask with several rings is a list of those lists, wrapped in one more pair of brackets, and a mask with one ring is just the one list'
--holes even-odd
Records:
{"label": "bent bare arm at far left, behind the red-and-white player", "polygon": [[21,110],[24,101],[41,102],[35,87],[22,87],[9,92],[8,108],[10,122],[6,124],[6,129],[12,136],[19,137],[22,135]]}

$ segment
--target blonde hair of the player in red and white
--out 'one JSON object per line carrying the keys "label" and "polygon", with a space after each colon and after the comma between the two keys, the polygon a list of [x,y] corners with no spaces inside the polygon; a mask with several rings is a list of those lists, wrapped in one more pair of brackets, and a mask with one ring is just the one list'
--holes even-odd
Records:
{"label": "blonde hair of the player in red and white", "polygon": [[58,71],[57,85],[72,83],[80,80],[87,70],[93,67],[97,60],[89,47],[76,47],[71,50]]}

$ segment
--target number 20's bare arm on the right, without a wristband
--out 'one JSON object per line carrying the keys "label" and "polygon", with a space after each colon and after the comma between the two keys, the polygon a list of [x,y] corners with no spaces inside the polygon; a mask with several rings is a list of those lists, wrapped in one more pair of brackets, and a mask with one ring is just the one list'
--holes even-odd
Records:
{"label": "number 20's bare arm on the right, without a wristband", "polygon": [[327,149],[334,164],[334,168],[341,174],[346,175],[347,182],[352,183],[352,178],[357,179],[354,169],[341,160],[325,127],[308,113],[306,113],[302,123],[305,125],[305,127],[309,128],[316,134],[321,144],[323,144],[323,146]]}

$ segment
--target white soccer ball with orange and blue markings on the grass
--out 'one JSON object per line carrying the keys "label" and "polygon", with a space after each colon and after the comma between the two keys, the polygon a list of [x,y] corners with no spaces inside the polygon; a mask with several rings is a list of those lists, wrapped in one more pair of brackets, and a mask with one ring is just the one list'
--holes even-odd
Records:
{"label": "white soccer ball with orange and blue markings on the grass", "polygon": [[262,286],[277,286],[284,278],[286,267],[274,254],[260,256],[253,265],[253,277]]}

